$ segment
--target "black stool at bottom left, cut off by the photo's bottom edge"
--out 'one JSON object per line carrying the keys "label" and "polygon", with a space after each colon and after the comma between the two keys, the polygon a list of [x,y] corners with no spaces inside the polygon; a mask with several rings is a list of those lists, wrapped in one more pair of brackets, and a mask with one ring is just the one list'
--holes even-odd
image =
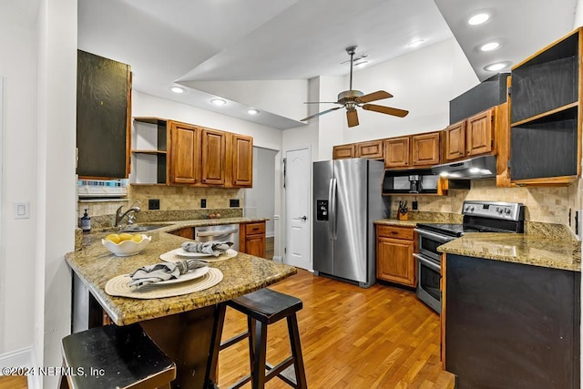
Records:
{"label": "black stool at bottom left, cut off by the photo's bottom edge", "polygon": [[176,365],[139,324],[114,324],[72,333],[62,341],[60,388],[170,388]]}

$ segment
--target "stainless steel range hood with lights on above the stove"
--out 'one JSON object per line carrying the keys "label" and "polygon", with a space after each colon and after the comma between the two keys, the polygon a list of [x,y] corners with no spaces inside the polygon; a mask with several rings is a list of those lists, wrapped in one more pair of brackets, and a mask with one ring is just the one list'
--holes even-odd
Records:
{"label": "stainless steel range hood with lights on above the stove", "polygon": [[496,156],[481,156],[435,165],[431,171],[447,179],[492,179],[496,177]]}

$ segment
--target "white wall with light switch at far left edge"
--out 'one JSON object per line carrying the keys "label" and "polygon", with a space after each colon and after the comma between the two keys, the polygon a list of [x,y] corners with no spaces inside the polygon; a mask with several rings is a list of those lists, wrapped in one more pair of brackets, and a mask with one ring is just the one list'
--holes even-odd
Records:
{"label": "white wall with light switch at far left edge", "polygon": [[[32,346],[35,324],[36,12],[27,15],[17,3],[3,2],[0,12],[4,77],[0,355]],[[12,204],[19,200],[30,201],[30,219],[13,219]],[[22,271],[31,276],[15,276]]]}

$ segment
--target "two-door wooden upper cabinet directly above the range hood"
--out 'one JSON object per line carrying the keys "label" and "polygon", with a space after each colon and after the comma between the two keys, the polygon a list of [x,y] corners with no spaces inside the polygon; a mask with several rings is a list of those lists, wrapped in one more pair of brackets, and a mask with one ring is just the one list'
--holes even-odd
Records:
{"label": "two-door wooden upper cabinet directly above the range hood", "polygon": [[444,159],[466,159],[494,150],[495,108],[486,109],[444,130]]}

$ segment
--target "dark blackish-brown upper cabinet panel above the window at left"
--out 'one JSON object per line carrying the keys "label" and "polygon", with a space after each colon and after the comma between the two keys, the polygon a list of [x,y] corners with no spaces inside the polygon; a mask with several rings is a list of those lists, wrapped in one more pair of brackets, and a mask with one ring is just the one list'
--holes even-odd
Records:
{"label": "dark blackish-brown upper cabinet panel above the window at left", "polygon": [[80,178],[128,178],[130,107],[130,67],[77,50],[77,174]]}

